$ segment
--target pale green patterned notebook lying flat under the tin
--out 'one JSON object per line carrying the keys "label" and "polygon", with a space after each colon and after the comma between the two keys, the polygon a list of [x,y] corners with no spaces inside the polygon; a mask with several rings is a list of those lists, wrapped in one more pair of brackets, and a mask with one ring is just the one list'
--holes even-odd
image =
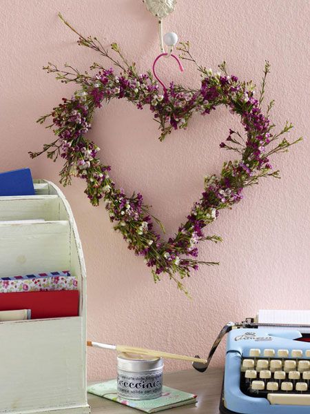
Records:
{"label": "pale green patterned notebook lying flat under the tin", "polygon": [[145,413],[156,413],[157,411],[167,410],[168,408],[178,407],[186,404],[196,403],[197,395],[178,391],[168,386],[163,386],[163,394],[154,400],[125,400],[117,396],[116,380],[101,382],[87,387],[88,393],[99,395],[99,397],[116,401],[121,404],[145,411]]}

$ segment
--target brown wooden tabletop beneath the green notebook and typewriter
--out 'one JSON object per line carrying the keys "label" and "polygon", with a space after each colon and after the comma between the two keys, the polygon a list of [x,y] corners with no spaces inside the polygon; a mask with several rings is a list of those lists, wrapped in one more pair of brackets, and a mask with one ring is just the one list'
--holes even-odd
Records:
{"label": "brown wooden tabletop beneath the green notebook and typewriter", "polygon": [[[194,368],[174,373],[164,373],[164,384],[187,393],[198,395],[197,403],[165,410],[165,414],[218,414],[223,370],[208,368],[205,373],[198,373]],[[135,408],[123,406],[117,402],[88,394],[88,403],[92,414],[137,414]],[[142,413],[142,411],[141,411]]]}

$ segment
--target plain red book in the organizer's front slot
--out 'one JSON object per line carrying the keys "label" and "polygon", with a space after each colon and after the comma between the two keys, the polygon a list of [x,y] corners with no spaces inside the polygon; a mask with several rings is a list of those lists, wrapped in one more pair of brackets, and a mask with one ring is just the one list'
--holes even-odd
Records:
{"label": "plain red book in the organizer's front slot", "polygon": [[0,311],[31,309],[31,319],[79,316],[79,290],[0,293]]}

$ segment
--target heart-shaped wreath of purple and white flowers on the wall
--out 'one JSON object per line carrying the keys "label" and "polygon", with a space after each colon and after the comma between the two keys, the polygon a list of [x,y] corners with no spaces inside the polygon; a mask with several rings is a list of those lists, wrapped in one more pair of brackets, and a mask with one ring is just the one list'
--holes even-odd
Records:
{"label": "heart-shaped wreath of purple and white flowers on the wall", "polygon": [[[65,24],[74,30],[68,22]],[[270,155],[286,151],[301,139],[291,143],[287,139],[281,139],[267,150],[270,144],[292,128],[291,124],[286,124],[277,134],[271,132],[274,125],[268,117],[273,101],[267,107],[267,114],[262,114],[261,104],[269,63],[266,62],[265,65],[258,99],[254,97],[255,86],[251,81],[240,82],[236,76],[227,75],[225,62],[219,66],[221,72],[216,74],[197,65],[202,76],[199,89],[187,89],[171,83],[161,94],[151,72],[138,75],[135,64],[127,62],[116,43],[112,43],[112,50],[121,60],[110,56],[96,37],[85,38],[79,34],[78,43],[109,58],[121,73],[116,75],[112,68],[105,69],[98,63],[91,66],[92,70],[99,70],[96,75],[81,73],[71,66],[65,66],[65,70],[61,71],[49,63],[44,69],[55,72],[56,79],[65,83],[77,83],[81,88],[71,99],[63,98],[63,103],[38,120],[43,124],[47,118],[52,117],[52,124],[47,128],[54,128],[57,139],[51,144],[45,144],[42,152],[30,152],[30,155],[37,157],[47,152],[48,158],[54,160],[61,155],[65,159],[60,172],[61,183],[70,184],[72,176],[85,179],[85,193],[92,205],[98,206],[101,198],[105,200],[110,219],[116,223],[114,229],[122,233],[128,248],[134,250],[136,255],[143,256],[147,266],[152,267],[154,281],[159,280],[161,273],[166,273],[178,284],[178,288],[187,293],[180,279],[189,276],[190,270],[197,269],[199,264],[216,264],[196,259],[198,242],[220,241],[218,236],[205,235],[203,228],[218,217],[220,210],[231,208],[240,201],[243,188],[257,184],[260,177],[278,177],[278,171],[271,171]],[[180,45],[180,57],[196,63],[189,52],[189,43]],[[85,137],[91,128],[94,110],[101,108],[103,101],[108,103],[114,98],[127,99],[139,109],[149,106],[160,124],[161,141],[173,129],[186,128],[194,112],[207,115],[219,105],[225,105],[232,113],[238,114],[245,128],[244,136],[229,130],[227,142],[220,144],[221,148],[237,152],[240,159],[225,162],[220,176],[205,177],[202,197],[194,204],[186,223],[180,224],[178,233],[168,241],[163,240],[154,230],[152,218],[158,224],[160,221],[149,213],[149,206],[143,204],[142,195],[134,193],[128,197],[124,190],[116,188],[109,175],[110,166],[103,165],[97,157],[98,146]]]}

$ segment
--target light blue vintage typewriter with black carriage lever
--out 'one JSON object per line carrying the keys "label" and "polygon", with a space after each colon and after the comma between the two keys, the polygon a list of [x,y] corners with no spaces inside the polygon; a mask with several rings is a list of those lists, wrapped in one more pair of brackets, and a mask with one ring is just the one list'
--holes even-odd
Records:
{"label": "light blue vintage typewriter with black carriage lever", "polygon": [[207,364],[227,335],[223,414],[310,414],[310,325],[264,324],[254,319],[224,326]]}

